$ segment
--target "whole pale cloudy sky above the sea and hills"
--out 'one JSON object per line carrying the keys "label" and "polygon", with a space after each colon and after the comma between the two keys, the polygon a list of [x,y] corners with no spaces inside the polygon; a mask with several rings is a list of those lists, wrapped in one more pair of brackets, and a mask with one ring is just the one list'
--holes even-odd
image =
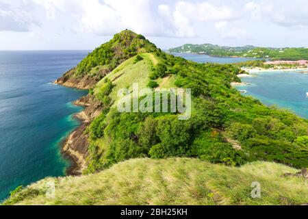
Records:
{"label": "whole pale cloudy sky above the sea and hills", "polygon": [[308,47],[308,1],[0,0],[0,50],[92,50],[123,29],[162,49]]}

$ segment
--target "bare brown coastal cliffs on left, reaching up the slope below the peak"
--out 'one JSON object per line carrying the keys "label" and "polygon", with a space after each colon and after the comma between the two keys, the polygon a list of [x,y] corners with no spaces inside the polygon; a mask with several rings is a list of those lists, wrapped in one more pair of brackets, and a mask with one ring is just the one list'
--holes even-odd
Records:
{"label": "bare brown coastal cliffs on left, reaching up the slope below the peak", "polygon": [[[68,70],[68,72],[66,72],[62,77],[55,80],[55,83],[69,88],[86,90],[93,88],[103,76],[110,73],[110,70],[100,70],[95,77],[86,75],[82,78],[76,78],[75,70],[76,68]],[[75,129],[73,133],[70,133],[62,145],[62,153],[72,162],[72,165],[67,170],[68,175],[80,175],[87,167],[86,160],[88,157],[89,142],[86,128],[102,110],[101,103],[96,99],[93,99],[90,94],[81,97],[75,101],[74,104],[86,107],[86,109],[75,115],[75,118],[81,120],[82,124],[80,127]]]}

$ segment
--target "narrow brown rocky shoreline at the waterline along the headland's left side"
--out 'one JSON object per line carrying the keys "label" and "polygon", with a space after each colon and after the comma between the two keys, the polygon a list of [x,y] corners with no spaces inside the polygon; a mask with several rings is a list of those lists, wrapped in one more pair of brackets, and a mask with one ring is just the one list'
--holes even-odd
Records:
{"label": "narrow brown rocky shoreline at the waterline along the headland's left side", "polygon": [[[63,77],[55,81],[56,84],[66,86],[69,88],[77,88],[86,90],[91,81],[75,81],[71,83],[72,79],[63,80]],[[84,110],[74,115],[81,121],[81,125],[77,127],[70,135],[62,142],[61,153],[70,160],[70,167],[66,170],[66,175],[81,175],[87,167],[88,157],[88,134],[86,129],[92,120],[101,112],[101,103],[97,103],[94,99],[87,96],[82,96],[80,99],[74,102],[75,105],[85,107]]]}

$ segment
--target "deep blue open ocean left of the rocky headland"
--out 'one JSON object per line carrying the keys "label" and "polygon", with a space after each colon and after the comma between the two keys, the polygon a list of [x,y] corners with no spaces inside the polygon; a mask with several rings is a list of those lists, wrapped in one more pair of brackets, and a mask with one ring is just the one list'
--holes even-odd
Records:
{"label": "deep blue open ocean left of the rocky headland", "polygon": [[65,175],[60,142],[86,91],[53,83],[88,51],[0,51],[0,201],[19,185]]}

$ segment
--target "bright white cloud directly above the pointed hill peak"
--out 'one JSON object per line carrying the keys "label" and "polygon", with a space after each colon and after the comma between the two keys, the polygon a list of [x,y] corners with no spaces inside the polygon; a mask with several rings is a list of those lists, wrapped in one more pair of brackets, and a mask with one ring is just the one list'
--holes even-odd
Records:
{"label": "bright white cloud directly above the pointed hill peak", "polygon": [[132,29],[146,36],[192,37],[194,30],[182,14],[172,12],[168,5],[155,6],[151,0],[84,1],[79,31],[108,35]]}

